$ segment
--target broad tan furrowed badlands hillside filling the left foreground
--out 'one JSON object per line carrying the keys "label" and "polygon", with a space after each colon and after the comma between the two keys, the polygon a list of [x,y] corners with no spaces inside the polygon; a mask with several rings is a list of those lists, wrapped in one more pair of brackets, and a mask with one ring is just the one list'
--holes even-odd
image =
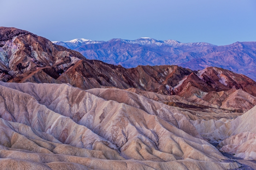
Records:
{"label": "broad tan furrowed badlands hillside filling the left foreground", "polygon": [[197,131],[176,108],[167,111],[159,103],[146,112],[67,84],[0,84],[0,162],[6,169],[239,166],[220,162],[226,158],[193,137]]}

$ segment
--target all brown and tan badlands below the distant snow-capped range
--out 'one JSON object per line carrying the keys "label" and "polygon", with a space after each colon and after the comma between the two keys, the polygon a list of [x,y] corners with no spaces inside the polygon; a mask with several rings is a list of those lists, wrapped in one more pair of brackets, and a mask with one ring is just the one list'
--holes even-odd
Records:
{"label": "all brown and tan badlands below the distant snow-capped range", "polygon": [[0,27],[0,80],[2,169],[226,170],[245,165],[222,153],[256,159],[256,82],[229,70],[124,68]]}

